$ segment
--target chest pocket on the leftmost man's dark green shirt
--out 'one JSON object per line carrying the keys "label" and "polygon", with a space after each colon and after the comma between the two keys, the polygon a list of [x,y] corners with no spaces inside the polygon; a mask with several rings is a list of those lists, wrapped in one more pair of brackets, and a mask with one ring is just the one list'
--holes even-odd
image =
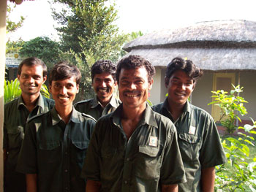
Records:
{"label": "chest pocket on the leftmost man's dark green shirt", "polygon": [[20,148],[24,138],[23,126],[12,126],[7,128],[8,149]]}

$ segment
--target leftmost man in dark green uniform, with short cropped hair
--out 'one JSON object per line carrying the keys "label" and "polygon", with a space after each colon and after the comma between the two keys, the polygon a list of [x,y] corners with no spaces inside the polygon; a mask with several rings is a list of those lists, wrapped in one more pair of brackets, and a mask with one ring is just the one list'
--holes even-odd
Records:
{"label": "leftmost man in dark green uniform, with short cropped hair", "polygon": [[4,192],[25,192],[25,174],[15,172],[26,121],[53,108],[54,101],[40,94],[47,67],[39,58],[26,58],[18,66],[21,96],[4,105]]}

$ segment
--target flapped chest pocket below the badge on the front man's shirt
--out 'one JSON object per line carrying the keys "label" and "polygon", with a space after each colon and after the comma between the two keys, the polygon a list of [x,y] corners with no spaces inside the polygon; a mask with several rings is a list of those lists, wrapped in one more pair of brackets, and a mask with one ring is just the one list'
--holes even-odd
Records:
{"label": "flapped chest pocket below the badge on the front man's shirt", "polygon": [[159,178],[162,166],[162,147],[139,146],[134,163],[136,176],[146,180]]}

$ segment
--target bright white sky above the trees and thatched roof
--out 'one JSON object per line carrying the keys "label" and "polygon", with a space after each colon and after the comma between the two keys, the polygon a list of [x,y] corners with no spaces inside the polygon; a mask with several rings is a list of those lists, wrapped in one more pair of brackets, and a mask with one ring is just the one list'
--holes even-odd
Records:
{"label": "bright white sky above the trees and thatched roof", "polygon": [[[146,34],[209,20],[256,21],[255,7],[255,0],[116,0],[116,25],[124,33]],[[18,20],[20,15],[26,18],[23,27],[7,37],[25,41],[41,36],[58,39],[54,29],[57,23],[47,0],[24,1],[10,18]]]}

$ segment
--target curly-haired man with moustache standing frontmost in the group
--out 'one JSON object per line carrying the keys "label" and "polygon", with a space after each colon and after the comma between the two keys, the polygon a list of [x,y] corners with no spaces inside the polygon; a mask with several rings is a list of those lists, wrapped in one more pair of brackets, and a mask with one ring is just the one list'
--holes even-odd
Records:
{"label": "curly-haired man with moustache standing frontmost in the group", "polygon": [[186,181],[173,123],[146,104],[155,73],[138,55],[118,62],[122,104],[97,121],[82,176],[86,191],[177,191]]}

